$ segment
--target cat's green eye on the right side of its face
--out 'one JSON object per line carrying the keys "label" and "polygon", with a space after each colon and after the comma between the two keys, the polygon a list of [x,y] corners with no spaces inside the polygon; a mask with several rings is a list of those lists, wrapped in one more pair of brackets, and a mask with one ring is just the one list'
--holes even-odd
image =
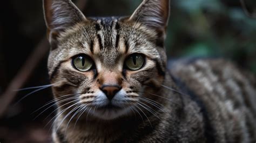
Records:
{"label": "cat's green eye on the right side of its face", "polygon": [[144,63],[145,56],[139,53],[134,53],[125,60],[125,66],[132,71],[141,69]]}

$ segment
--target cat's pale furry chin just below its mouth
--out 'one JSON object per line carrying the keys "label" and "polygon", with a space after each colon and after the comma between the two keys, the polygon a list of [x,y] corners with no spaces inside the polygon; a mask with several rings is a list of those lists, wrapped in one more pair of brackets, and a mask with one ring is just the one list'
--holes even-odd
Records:
{"label": "cat's pale furry chin just below its mouth", "polygon": [[101,119],[101,120],[113,120],[120,117],[123,117],[124,115],[128,115],[131,112],[129,107],[121,108],[121,107],[115,107],[115,106],[106,106],[102,108],[98,108],[97,110],[93,111],[91,114],[93,114],[95,117]]}

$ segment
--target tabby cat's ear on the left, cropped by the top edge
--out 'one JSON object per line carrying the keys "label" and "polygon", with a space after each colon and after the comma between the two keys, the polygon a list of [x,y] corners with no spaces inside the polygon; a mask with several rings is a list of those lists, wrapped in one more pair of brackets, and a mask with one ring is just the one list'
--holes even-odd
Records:
{"label": "tabby cat's ear on the left, cropped by the top edge", "polygon": [[48,38],[53,49],[59,32],[86,21],[83,13],[71,0],[43,0],[43,6]]}

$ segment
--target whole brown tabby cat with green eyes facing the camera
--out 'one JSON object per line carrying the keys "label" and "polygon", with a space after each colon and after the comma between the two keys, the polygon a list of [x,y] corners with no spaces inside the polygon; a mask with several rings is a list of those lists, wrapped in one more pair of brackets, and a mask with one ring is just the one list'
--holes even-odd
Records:
{"label": "whole brown tabby cat with green eyes facing the camera", "polygon": [[256,79],[225,59],[167,69],[169,0],[129,17],[88,18],[44,0],[53,142],[255,142]]}

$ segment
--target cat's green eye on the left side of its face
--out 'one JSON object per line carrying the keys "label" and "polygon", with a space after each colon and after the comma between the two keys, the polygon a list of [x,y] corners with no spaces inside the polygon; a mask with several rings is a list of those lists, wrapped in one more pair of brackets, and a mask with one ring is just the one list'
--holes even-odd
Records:
{"label": "cat's green eye on the left side of its face", "polygon": [[91,58],[87,56],[77,56],[73,58],[72,64],[78,71],[82,72],[89,71],[93,66]]}

